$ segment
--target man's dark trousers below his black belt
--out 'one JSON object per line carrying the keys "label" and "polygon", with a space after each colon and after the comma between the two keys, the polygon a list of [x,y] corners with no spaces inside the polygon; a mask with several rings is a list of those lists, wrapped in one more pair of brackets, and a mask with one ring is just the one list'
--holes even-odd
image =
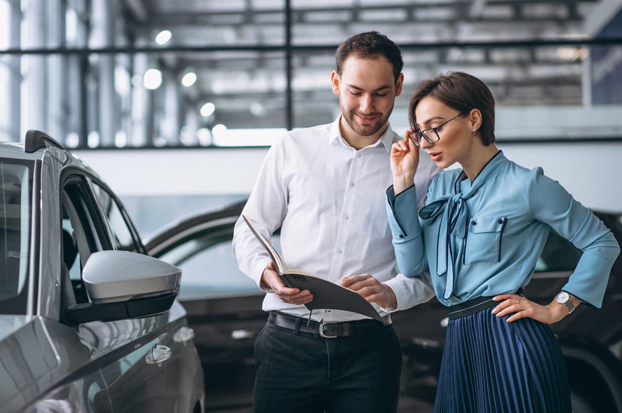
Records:
{"label": "man's dark trousers below his black belt", "polygon": [[392,325],[323,338],[267,323],[255,365],[254,413],[397,411],[402,351]]}

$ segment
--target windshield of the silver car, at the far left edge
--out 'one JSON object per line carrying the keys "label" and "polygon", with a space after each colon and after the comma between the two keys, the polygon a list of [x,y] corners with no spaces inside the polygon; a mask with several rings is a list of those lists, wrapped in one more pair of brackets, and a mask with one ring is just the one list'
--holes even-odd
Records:
{"label": "windshield of the silver car, at the far left edge", "polygon": [[32,164],[0,158],[0,314],[26,313]]}

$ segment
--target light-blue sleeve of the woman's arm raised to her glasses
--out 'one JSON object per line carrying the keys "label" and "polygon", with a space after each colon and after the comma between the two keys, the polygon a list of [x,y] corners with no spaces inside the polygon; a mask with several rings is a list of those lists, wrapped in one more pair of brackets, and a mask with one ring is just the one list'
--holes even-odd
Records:
{"label": "light-blue sleeve of the woman's arm raised to her glasses", "polygon": [[397,197],[394,195],[393,187],[389,187],[387,215],[393,236],[397,268],[407,277],[417,276],[425,269],[426,260],[417,215],[417,190],[414,185],[397,194]]}

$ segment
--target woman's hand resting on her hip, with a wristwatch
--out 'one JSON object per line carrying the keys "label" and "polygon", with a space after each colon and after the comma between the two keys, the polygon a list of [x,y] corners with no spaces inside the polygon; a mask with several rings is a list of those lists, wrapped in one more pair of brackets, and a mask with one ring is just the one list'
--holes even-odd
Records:
{"label": "woman's hand resting on her hip, with a wristwatch", "polygon": [[518,294],[501,294],[493,297],[493,300],[500,301],[493,309],[493,314],[497,317],[514,313],[508,318],[508,323],[528,317],[541,323],[552,324],[568,315],[567,307],[555,300],[549,305],[540,305]]}

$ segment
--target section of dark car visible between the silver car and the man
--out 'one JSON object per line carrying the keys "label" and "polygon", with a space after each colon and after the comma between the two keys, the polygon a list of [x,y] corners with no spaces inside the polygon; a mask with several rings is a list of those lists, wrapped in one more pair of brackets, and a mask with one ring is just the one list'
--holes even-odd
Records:
{"label": "section of dark car visible between the silver car and the man", "polygon": [[[231,251],[242,207],[179,221],[145,244],[148,254],[182,269],[178,298],[205,371],[206,411],[253,402],[254,341],[267,316],[264,293],[239,271]],[[272,244],[279,248],[278,236]]]}

